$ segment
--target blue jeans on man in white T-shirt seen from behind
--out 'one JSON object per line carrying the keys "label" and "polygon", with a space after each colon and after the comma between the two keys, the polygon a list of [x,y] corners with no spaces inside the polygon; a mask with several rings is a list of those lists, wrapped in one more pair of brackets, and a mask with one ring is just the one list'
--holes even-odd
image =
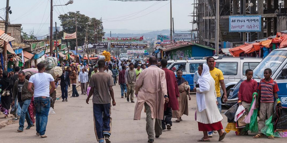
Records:
{"label": "blue jeans on man in white T-shirt seen from behind", "polygon": [[34,97],[36,109],[36,131],[41,136],[45,134],[50,110],[50,98]]}

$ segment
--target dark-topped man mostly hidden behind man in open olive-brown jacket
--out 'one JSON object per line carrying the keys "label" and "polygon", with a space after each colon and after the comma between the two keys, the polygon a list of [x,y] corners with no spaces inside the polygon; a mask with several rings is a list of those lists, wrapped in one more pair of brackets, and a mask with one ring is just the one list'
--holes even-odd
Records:
{"label": "dark-topped man mostly hidden behind man in open olive-brown jacket", "polygon": [[[20,71],[20,67],[15,67],[14,71],[15,71],[15,73],[13,76],[11,76],[9,86],[7,87],[7,90],[12,91],[12,92],[13,92],[13,87],[14,87],[15,81],[18,80],[18,72]],[[15,101],[14,101],[16,103],[16,104],[14,104],[14,106],[17,108],[17,114],[14,114],[14,116],[16,117],[16,118],[14,118],[14,120],[20,119],[20,115],[21,115],[21,107],[20,107],[19,102],[17,104],[17,99],[18,98],[15,98]]]}

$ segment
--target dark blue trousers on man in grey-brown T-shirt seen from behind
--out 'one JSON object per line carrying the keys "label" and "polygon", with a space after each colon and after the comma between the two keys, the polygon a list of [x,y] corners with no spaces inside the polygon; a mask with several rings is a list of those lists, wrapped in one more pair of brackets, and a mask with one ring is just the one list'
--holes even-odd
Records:
{"label": "dark blue trousers on man in grey-brown T-shirt seen from behind", "polygon": [[111,134],[112,118],[110,117],[109,104],[93,104],[94,128],[96,129],[96,139],[98,142],[104,142],[104,134]]}

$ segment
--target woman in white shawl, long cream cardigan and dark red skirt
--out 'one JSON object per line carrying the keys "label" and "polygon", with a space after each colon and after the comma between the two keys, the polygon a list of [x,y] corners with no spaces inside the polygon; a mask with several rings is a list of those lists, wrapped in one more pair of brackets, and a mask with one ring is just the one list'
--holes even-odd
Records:
{"label": "woman in white shawl, long cream cardigan and dark red skirt", "polygon": [[198,67],[200,75],[197,83],[199,87],[194,87],[196,92],[197,110],[196,121],[198,122],[198,130],[203,131],[203,138],[197,140],[199,142],[209,142],[208,131],[218,131],[219,141],[223,140],[226,132],[222,129],[221,116],[216,100],[215,81],[210,75],[209,67],[201,64]]}

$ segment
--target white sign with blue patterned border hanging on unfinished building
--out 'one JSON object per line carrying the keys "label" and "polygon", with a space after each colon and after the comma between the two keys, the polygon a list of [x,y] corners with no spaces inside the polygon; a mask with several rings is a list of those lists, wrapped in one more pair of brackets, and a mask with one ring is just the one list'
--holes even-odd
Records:
{"label": "white sign with blue patterned border hanging on unfinished building", "polygon": [[261,15],[229,16],[229,32],[260,32]]}

